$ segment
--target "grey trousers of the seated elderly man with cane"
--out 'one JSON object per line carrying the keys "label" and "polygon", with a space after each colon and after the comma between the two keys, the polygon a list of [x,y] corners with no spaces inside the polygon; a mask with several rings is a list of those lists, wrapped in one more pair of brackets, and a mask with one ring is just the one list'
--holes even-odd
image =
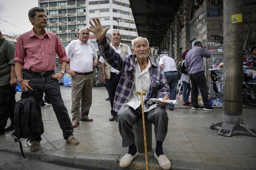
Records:
{"label": "grey trousers of the seated elderly man with cane", "polygon": [[[117,113],[116,122],[118,122],[119,133],[122,136],[122,147],[128,147],[135,143],[134,133],[132,131],[136,120],[142,118],[141,106],[134,110],[129,105],[122,105]],[[157,141],[164,141],[168,127],[168,116],[163,106],[157,106],[149,113],[145,113],[145,119],[154,124],[154,133]]]}

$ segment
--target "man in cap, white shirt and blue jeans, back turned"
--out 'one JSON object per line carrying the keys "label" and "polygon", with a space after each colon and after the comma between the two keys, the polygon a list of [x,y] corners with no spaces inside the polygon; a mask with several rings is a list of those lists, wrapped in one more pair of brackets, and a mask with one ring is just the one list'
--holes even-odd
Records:
{"label": "man in cap, white shirt and blue jeans, back turned", "polygon": [[[176,99],[176,88],[178,84],[178,73],[175,60],[172,57],[169,57],[166,51],[161,51],[159,64],[163,68],[165,73],[167,83],[170,88],[171,100]],[[169,105],[169,110],[173,111],[174,105]]]}

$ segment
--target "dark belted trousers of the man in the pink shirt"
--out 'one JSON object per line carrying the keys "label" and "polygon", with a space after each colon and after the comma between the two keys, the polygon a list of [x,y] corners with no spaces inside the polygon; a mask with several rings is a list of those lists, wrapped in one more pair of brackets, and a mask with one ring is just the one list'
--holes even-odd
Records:
{"label": "dark belted trousers of the man in the pink shirt", "polygon": [[[25,71],[24,79],[29,79],[29,86],[33,89],[32,94],[37,101],[37,108],[40,115],[40,102],[44,96],[44,93],[47,94],[49,100],[51,101],[53,111],[55,112],[61,130],[63,131],[63,137],[65,140],[67,140],[70,135],[73,135],[73,126],[70,121],[67,108],[64,105],[61,97],[61,90],[58,80],[52,78],[53,74],[55,74],[55,72],[46,77],[41,77]],[[26,92],[24,94],[24,98],[27,98],[29,95],[30,94]],[[35,136],[32,141],[41,141],[41,135],[38,134],[38,136]]]}

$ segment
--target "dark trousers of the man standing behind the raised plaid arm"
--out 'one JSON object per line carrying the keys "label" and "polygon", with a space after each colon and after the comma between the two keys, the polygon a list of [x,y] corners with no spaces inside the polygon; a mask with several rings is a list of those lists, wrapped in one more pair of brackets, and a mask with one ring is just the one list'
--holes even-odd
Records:
{"label": "dark trousers of the man standing behind the raised plaid arm", "polygon": [[120,78],[121,78],[121,73],[116,74],[116,73],[111,72],[110,79],[107,79],[108,94],[109,94],[110,105],[111,105],[111,116],[117,115],[117,113],[115,111],[113,111],[113,104],[114,104],[114,99],[115,99],[115,94],[116,94],[116,88],[117,88]]}

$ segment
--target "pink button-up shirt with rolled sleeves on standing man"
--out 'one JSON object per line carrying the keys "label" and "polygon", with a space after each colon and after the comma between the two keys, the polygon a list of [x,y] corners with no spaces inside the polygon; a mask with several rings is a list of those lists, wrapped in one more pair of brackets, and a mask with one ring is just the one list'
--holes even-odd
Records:
{"label": "pink button-up shirt with rolled sleeves on standing man", "polygon": [[56,53],[60,62],[70,62],[57,35],[44,31],[44,37],[38,38],[32,29],[18,38],[14,61],[26,70],[42,73],[55,70]]}

